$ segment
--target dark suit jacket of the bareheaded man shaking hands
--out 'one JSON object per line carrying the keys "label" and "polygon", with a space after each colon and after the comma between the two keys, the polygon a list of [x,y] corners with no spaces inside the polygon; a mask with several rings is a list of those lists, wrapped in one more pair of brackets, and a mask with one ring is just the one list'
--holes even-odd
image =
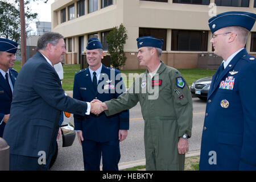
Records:
{"label": "dark suit jacket of the bareheaded man shaking hands", "polygon": [[65,96],[55,69],[37,52],[20,69],[3,138],[10,154],[46,158],[54,151],[60,111],[84,115],[86,102]]}

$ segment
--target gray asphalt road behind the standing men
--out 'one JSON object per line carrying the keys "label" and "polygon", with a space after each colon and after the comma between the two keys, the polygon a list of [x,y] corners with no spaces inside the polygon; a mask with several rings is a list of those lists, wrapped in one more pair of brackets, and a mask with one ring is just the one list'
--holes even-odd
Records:
{"label": "gray asphalt road behind the standing men", "polygon": [[[192,136],[189,139],[189,151],[200,150],[201,134],[203,130],[206,102],[199,98],[193,98],[193,127]],[[144,159],[144,120],[141,114],[141,106],[130,109],[130,130],[126,140],[120,143],[122,162]],[[62,140],[58,141],[59,153],[51,170],[84,170],[82,160],[82,147],[77,138],[70,147],[62,147]]]}

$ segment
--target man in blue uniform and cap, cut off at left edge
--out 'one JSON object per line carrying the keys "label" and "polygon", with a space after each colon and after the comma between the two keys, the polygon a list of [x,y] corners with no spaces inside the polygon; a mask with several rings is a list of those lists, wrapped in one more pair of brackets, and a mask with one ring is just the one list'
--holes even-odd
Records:
{"label": "man in blue uniform and cap, cut off at left edge", "polygon": [[18,72],[13,69],[18,44],[0,38],[0,137],[10,116],[13,86]]}

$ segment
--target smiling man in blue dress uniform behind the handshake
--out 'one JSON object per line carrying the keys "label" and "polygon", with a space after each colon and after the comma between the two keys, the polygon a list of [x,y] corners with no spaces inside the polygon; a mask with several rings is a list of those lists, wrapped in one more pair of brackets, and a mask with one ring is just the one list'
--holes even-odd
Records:
{"label": "smiling man in blue dress uniform behind the handshake", "polygon": [[[101,42],[97,38],[90,38],[86,49],[89,67],[76,73],[73,98],[86,102],[94,98],[101,101],[117,98],[125,89],[122,77],[117,76],[121,73],[117,69],[107,68],[101,64],[104,53]],[[74,114],[74,118],[75,130],[78,130],[77,136],[82,144],[84,169],[100,170],[102,155],[103,170],[118,170],[121,156],[119,141],[121,142],[127,136],[129,110],[111,117],[106,117],[105,113],[101,113],[85,117]]]}

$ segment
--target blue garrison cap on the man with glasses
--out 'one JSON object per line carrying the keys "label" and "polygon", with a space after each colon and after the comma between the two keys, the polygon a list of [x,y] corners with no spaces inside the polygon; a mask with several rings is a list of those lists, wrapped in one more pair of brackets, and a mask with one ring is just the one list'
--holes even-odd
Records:
{"label": "blue garrison cap on the man with glasses", "polygon": [[225,13],[213,16],[208,20],[210,31],[215,32],[224,27],[240,26],[247,30],[251,30],[256,20],[254,13],[243,11],[228,11]]}

